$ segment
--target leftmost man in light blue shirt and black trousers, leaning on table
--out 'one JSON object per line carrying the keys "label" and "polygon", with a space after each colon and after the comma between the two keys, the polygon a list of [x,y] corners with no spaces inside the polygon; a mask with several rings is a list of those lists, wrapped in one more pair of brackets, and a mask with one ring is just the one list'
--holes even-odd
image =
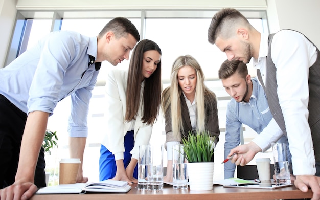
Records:
{"label": "leftmost man in light blue shirt and black trousers, leaning on table", "polygon": [[68,95],[70,158],[81,160],[77,182],[88,181],[82,175],[82,159],[89,101],[101,62],[116,66],[128,60],[139,40],[131,21],[117,17],[96,37],[52,32],[0,69],[0,198],[30,198],[37,187],[45,186],[41,146],[48,117]]}

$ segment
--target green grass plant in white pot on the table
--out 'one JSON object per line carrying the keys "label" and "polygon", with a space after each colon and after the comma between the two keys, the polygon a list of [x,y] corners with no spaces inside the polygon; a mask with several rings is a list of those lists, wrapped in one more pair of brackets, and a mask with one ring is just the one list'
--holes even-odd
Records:
{"label": "green grass plant in white pot on the table", "polygon": [[[189,132],[188,138],[182,138],[184,152],[188,160],[187,170],[190,190],[212,190],[214,148],[209,132]],[[214,140],[215,137],[213,137]]]}

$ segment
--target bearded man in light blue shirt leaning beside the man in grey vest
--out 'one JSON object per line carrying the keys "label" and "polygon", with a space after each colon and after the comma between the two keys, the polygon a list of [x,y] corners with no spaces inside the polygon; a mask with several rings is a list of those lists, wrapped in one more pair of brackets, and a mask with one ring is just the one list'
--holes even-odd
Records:
{"label": "bearded man in light blue shirt leaning beside the man in grey vest", "polygon": [[[240,144],[240,130],[242,124],[245,124],[258,134],[262,131],[277,131],[277,136],[281,137],[278,142],[287,144],[288,159],[291,163],[288,140],[282,134],[280,127],[275,124],[272,130],[266,128],[273,120],[272,114],[262,86],[257,78],[251,78],[248,74],[246,64],[237,60],[226,60],[222,63],[218,74],[225,91],[232,97],[226,110],[224,158],[231,149]],[[278,138],[273,138],[273,141],[275,140]],[[254,139],[252,142],[260,146],[265,141]],[[235,168],[236,165],[231,162],[224,163],[224,178],[234,177]]]}

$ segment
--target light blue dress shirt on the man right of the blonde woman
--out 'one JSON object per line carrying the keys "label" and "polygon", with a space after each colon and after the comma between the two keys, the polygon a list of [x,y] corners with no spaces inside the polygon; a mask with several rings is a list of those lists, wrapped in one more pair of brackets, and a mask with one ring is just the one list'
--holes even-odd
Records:
{"label": "light blue dress shirt on the man right of the blonde woman", "polygon": [[[224,158],[230,153],[230,150],[240,144],[241,125],[245,124],[255,130],[258,134],[269,124],[272,114],[262,86],[257,78],[252,78],[253,90],[248,103],[236,102],[231,99],[226,110],[226,128],[224,143]],[[287,138],[282,136],[278,142],[287,143]],[[289,153],[289,151],[288,151]],[[291,155],[288,154],[289,162]],[[234,177],[236,165],[229,162],[224,163],[224,178]]]}

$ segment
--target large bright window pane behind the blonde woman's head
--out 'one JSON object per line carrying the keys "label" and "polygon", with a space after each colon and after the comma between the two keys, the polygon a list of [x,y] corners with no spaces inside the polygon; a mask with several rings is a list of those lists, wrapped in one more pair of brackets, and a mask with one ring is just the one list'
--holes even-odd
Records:
{"label": "large bright window pane behind the blonde woman's head", "polygon": [[[261,19],[249,21],[258,31],[262,30]],[[217,72],[227,57],[208,42],[210,23],[211,18],[146,19],[146,38],[158,43],[162,50],[162,79],[165,83],[170,80],[174,60],[186,54],[199,62],[206,80],[218,79]]]}

